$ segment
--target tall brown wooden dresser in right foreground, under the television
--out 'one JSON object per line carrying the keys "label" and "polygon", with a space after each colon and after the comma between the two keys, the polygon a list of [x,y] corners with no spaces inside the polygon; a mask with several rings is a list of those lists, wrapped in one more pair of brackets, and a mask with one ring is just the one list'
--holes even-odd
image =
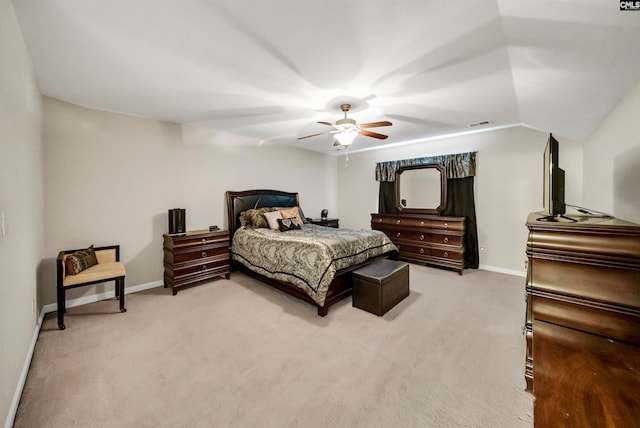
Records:
{"label": "tall brown wooden dresser in right foreground, under the television", "polygon": [[640,225],[527,219],[526,362],[535,427],[640,421]]}

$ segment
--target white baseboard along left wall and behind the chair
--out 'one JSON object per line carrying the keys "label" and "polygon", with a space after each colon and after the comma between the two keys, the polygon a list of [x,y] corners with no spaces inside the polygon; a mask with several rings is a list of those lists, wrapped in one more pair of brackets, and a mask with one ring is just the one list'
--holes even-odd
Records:
{"label": "white baseboard along left wall and behind the chair", "polygon": [[[137,293],[139,291],[148,290],[150,288],[160,287],[163,285],[164,285],[164,281],[160,280],[160,281],[152,281],[144,284],[134,285],[133,287],[125,287],[124,294]],[[79,297],[73,300],[67,300],[67,302],[65,303],[65,306],[67,308],[72,308],[74,306],[85,305],[87,303],[99,302],[100,300],[109,299],[114,296],[115,296],[115,290],[111,292],[94,294],[92,296]],[[5,428],[11,428],[13,426],[13,422],[16,417],[16,412],[18,411],[18,404],[20,403],[20,397],[22,396],[22,391],[24,389],[24,384],[27,381],[27,374],[29,373],[29,367],[31,366],[33,351],[35,350],[36,342],[38,341],[38,335],[40,334],[40,328],[42,327],[42,322],[44,321],[44,316],[50,312],[55,312],[57,310],[58,310],[58,305],[56,303],[43,305],[42,309],[40,310],[40,316],[38,317],[38,322],[36,323],[36,327],[33,332],[33,337],[31,338],[31,343],[29,344],[29,351],[27,352],[27,356],[22,366],[22,371],[20,372],[20,378],[18,379],[18,385],[16,386],[16,391],[13,394],[13,400],[11,401],[11,406],[9,407],[9,413],[7,414],[7,419],[4,423]]]}

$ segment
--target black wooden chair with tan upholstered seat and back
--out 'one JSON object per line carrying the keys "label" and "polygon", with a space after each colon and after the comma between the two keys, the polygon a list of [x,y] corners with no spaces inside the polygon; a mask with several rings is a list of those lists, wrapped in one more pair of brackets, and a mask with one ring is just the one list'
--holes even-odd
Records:
{"label": "black wooden chair with tan upholstered seat and back", "polygon": [[[83,248],[84,249],[84,248]],[[56,260],[58,278],[58,328],[65,329],[65,292],[70,288],[83,287],[106,281],[115,281],[116,299],[120,300],[120,312],[126,312],[124,307],[124,266],[120,263],[120,246],[110,245],[93,249],[98,264],[91,266],[76,275],[66,275],[65,260],[69,254],[81,250],[64,250],[58,253]]]}

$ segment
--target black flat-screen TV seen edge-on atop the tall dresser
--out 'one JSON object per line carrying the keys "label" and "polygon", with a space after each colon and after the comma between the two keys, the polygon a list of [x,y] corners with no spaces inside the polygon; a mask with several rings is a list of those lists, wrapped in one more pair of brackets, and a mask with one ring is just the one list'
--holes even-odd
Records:
{"label": "black flat-screen TV seen edge-on atop the tall dresser", "polygon": [[558,140],[549,134],[547,146],[544,149],[543,172],[543,203],[547,214],[539,220],[557,221],[564,217],[566,205],[564,203],[564,170],[558,166]]}

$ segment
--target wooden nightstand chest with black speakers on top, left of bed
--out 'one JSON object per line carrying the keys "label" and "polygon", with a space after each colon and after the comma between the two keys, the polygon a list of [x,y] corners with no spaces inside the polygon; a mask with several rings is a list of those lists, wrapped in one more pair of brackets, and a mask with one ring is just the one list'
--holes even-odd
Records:
{"label": "wooden nightstand chest with black speakers on top, left of bed", "polygon": [[180,287],[224,275],[229,279],[229,231],[198,230],[165,234],[164,286]]}

